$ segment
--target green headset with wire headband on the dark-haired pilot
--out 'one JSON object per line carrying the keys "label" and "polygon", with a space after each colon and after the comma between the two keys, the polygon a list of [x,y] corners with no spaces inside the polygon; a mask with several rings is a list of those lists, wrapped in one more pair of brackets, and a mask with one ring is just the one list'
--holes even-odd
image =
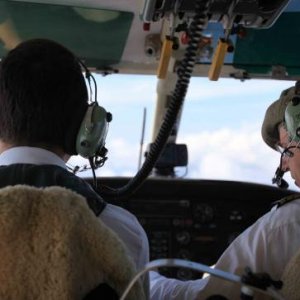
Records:
{"label": "green headset with wire headband on the dark-haired pilot", "polygon": [[76,152],[80,156],[89,159],[101,157],[100,160],[104,162],[107,153],[105,139],[108,132],[108,124],[112,120],[112,115],[98,104],[96,80],[85,64],[80,60],[78,61],[85,72],[90,96],[92,95],[91,79],[93,81],[94,100],[90,101],[91,104],[89,104],[78,130],[76,137]]}

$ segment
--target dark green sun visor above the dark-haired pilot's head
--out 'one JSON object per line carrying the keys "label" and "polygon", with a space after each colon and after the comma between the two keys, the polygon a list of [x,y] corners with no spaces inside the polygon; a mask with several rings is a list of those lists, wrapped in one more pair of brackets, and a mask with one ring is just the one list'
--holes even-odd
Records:
{"label": "dark green sun visor above the dark-haired pilot's head", "polygon": [[1,0],[0,56],[21,41],[46,38],[105,69],[121,60],[132,20],[130,12]]}

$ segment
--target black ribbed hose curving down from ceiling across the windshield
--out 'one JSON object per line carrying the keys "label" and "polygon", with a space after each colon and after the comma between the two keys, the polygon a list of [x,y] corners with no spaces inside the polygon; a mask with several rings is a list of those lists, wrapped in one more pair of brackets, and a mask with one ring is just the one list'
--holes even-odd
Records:
{"label": "black ribbed hose curving down from ceiling across the windshield", "polygon": [[161,128],[150,148],[146,160],[144,161],[141,169],[137,172],[137,174],[133,178],[131,178],[123,187],[112,189],[102,186],[102,189],[99,192],[103,197],[108,196],[109,198],[114,199],[119,197],[126,197],[134,193],[151,173],[168,140],[168,137],[170,136],[170,133],[177,120],[179,111],[183,105],[190,78],[196,64],[198,44],[201,39],[203,28],[206,24],[209,2],[210,1],[205,1],[205,3],[203,3],[203,0],[196,0],[196,14],[193,18],[189,31],[190,40],[184,54],[184,58],[177,70],[178,79],[175,85],[175,90],[172,94],[172,98]]}

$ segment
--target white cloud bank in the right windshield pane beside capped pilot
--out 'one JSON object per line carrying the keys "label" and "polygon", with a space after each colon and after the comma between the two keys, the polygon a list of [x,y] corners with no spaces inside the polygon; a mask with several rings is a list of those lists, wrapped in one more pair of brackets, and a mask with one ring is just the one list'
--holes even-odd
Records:
{"label": "white cloud bank in the right windshield pane beside capped pilot", "polygon": [[[189,150],[188,177],[271,184],[280,156],[264,144],[258,129],[223,128],[181,138]],[[290,177],[289,183],[296,188]]]}

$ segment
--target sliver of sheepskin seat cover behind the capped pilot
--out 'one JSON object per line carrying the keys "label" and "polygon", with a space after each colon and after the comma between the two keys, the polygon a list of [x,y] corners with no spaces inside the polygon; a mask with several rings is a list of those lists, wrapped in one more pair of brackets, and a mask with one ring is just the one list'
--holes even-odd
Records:
{"label": "sliver of sheepskin seat cover behind the capped pilot", "polygon": [[300,250],[286,265],[283,275],[282,294],[288,300],[300,300]]}

